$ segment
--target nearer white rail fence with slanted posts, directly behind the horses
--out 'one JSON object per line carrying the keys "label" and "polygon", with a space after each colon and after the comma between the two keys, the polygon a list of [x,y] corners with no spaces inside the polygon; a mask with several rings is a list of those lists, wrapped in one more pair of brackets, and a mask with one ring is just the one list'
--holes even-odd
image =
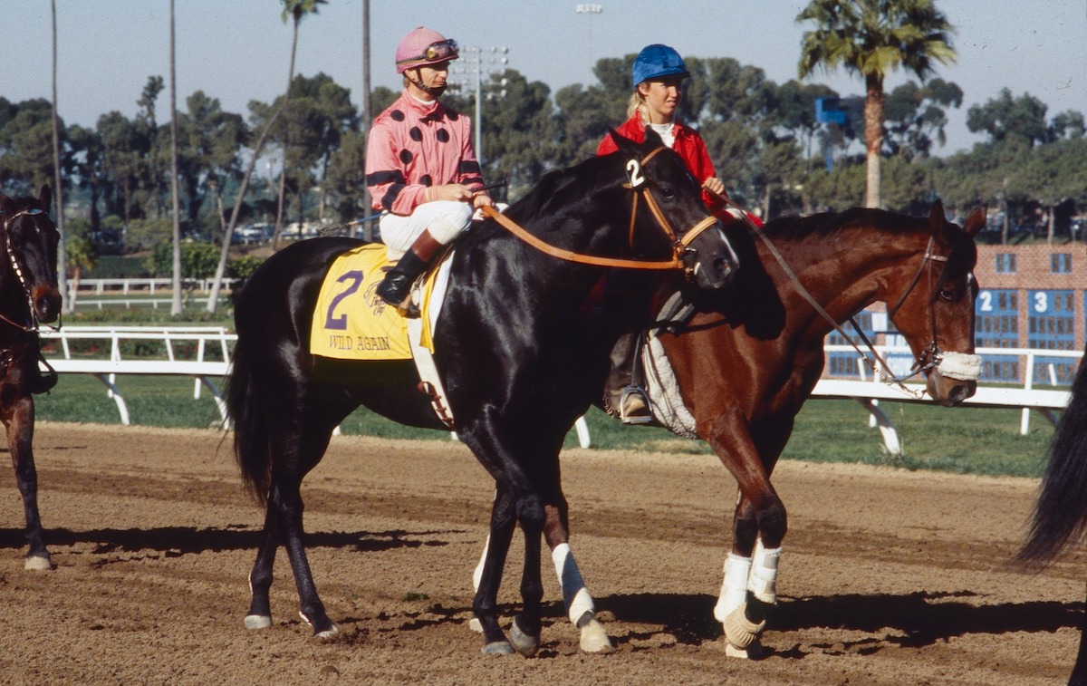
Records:
{"label": "nearer white rail fence with slanted posts, directly behind the horses", "polygon": [[[122,388],[117,385],[117,376],[136,375],[168,375],[189,376],[193,381],[193,398],[200,398],[201,389],[207,388],[215,401],[223,421],[227,420],[226,404],[217,384],[229,371],[230,353],[237,335],[218,326],[65,326],[59,332],[42,332],[46,340],[60,341],[60,353],[48,356],[49,364],[60,374],[90,374],[107,387],[107,395],[116,403],[122,424],[130,424],[128,408],[125,403]],[[109,357],[73,356],[72,342],[76,340],[98,340],[104,350],[108,347]],[[134,358],[123,354],[123,342],[136,340],[157,340],[163,344],[159,359]],[[178,344],[185,342],[186,354],[180,354]],[[215,350],[213,359],[209,352]],[[826,346],[827,353],[854,353],[849,346]],[[877,347],[879,354],[890,359],[892,366],[901,363],[909,367],[912,356],[909,348],[899,346]],[[1034,410],[1042,414],[1051,423],[1055,423],[1054,410],[1061,410],[1069,403],[1071,391],[1066,387],[1057,386],[1054,364],[1048,364],[1048,378],[1034,378],[1035,360],[1069,359],[1078,364],[1083,357],[1080,351],[1071,350],[1036,350],[1026,348],[979,348],[977,353],[986,356],[1016,357],[1025,373],[1025,382],[1021,385],[979,384],[977,394],[969,399],[965,407],[986,408],[1021,408],[1022,419],[1020,431],[1026,434],[1029,428],[1029,415]],[[855,353],[854,353],[855,354]],[[861,403],[870,414],[871,426],[878,427],[890,454],[901,454],[901,441],[890,417],[879,408],[880,401],[890,402],[928,402],[916,400],[898,388],[870,378],[861,360],[858,362],[857,376],[853,378],[822,378],[815,386],[814,398],[852,399]],[[902,371],[902,370],[897,370]],[[1036,385],[1048,385],[1047,388],[1035,388]],[[924,387],[922,383],[907,384],[913,390]],[[578,441],[583,447],[589,447],[589,432],[584,417],[578,420]]]}

